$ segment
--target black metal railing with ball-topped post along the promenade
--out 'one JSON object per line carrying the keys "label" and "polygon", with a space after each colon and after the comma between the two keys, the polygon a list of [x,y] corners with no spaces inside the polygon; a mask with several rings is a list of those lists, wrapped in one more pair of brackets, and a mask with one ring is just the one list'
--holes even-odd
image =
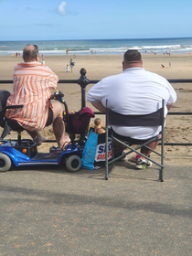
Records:
{"label": "black metal railing with ball-topped post along the promenade", "polygon": [[[86,77],[86,69],[80,69],[79,80],[59,80],[59,83],[77,83],[81,89],[81,108],[86,107],[86,87],[88,84],[95,84],[100,80],[89,80]],[[168,80],[170,83],[192,83],[192,80]],[[13,83],[13,80],[0,80],[0,84]],[[95,114],[103,114],[101,112],[94,112]],[[192,112],[168,112],[168,115],[192,115]],[[47,141],[47,142],[52,142]],[[191,143],[165,143],[165,145],[192,145]]]}

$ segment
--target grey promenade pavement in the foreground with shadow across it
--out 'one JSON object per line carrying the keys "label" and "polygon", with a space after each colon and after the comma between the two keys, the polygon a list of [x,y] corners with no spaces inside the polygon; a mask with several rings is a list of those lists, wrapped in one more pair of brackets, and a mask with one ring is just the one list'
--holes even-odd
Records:
{"label": "grey promenade pavement in the foreground with shadow across it", "polygon": [[165,182],[157,179],[157,167],[130,162],[118,162],[108,181],[104,168],[1,173],[0,256],[190,256],[191,166],[167,159]]}

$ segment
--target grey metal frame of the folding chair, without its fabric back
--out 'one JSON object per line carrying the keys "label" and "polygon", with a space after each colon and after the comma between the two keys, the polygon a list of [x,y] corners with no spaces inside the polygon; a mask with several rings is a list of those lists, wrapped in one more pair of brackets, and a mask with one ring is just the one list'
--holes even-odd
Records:
{"label": "grey metal frame of the folding chair, without its fabric back", "polygon": [[[110,129],[110,125],[114,124],[112,123],[112,120],[109,119],[109,112],[111,110],[108,108],[108,100],[106,100],[106,155],[108,155],[108,144],[109,141],[112,141],[112,160],[108,160],[108,157],[106,157],[106,164],[105,164],[105,179],[108,180],[109,176],[111,176],[112,174],[112,170],[114,168],[114,162],[117,160],[120,160],[121,158],[123,158],[125,155],[129,155],[131,153],[135,153],[135,154],[139,154],[139,155],[143,155],[142,153],[140,153],[138,150],[141,149],[143,146],[145,146],[146,148],[150,149],[153,153],[155,153],[155,155],[159,155],[161,157],[161,163],[156,162],[155,160],[147,157],[146,155],[143,155],[146,159],[150,160],[152,163],[154,163],[155,165],[158,165],[160,167],[159,170],[159,180],[161,182],[164,181],[164,145],[165,145],[165,120],[159,120],[159,124],[161,126],[161,138],[158,138],[158,136],[156,136],[155,138],[149,139],[148,141],[144,142],[143,144],[137,144],[136,147],[132,147],[133,143],[129,143],[126,142],[123,143],[122,141],[120,141],[119,139],[117,139],[116,137],[114,137],[113,135],[109,136],[109,129]],[[162,108],[161,108],[161,114],[164,117],[165,114],[165,100],[162,100]],[[141,115],[140,115],[141,116]],[[142,117],[144,117],[146,115],[142,115]],[[129,116],[127,116],[127,118],[129,118]],[[160,119],[160,118],[159,118]],[[116,125],[116,123],[115,123]],[[119,126],[129,126],[129,125],[119,125]],[[142,125],[130,125],[130,126],[142,126]],[[148,125],[150,126],[150,124]],[[154,126],[154,125],[151,125]],[[130,149],[129,152],[120,155],[116,158],[114,158],[114,145],[113,142],[117,142],[119,144],[123,144],[124,148],[128,148]],[[158,152],[156,152],[154,149],[150,148],[147,144],[153,143],[153,142],[161,142],[158,145],[161,145],[161,154],[159,154]],[[112,167],[109,171],[109,165],[112,164]]]}

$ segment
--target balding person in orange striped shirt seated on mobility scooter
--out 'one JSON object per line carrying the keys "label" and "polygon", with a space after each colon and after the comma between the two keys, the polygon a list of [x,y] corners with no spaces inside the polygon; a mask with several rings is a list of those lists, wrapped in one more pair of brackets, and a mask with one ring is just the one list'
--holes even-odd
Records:
{"label": "balding person in orange striped shirt seated on mobility scooter", "polygon": [[5,117],[16,120],[19,126],[27,130],[37,145],[48,138],[39,131],[53,123],[53,133],[59,148],[69,137],[64,136],[63,108],[59,101],[51,103],[50,89],[57,88],[58,76],[47,66],[42,65],[36,45],[27,45],[23,50],[24,62],[14,68],[13,93],[6,105],[24,105],[23,108],[7,110]]}

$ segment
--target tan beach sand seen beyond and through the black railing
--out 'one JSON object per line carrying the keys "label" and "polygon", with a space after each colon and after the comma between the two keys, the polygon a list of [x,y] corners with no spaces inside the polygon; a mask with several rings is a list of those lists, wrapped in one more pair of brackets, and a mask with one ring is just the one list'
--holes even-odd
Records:
{"label": "tan beach sand seen beyond and through the black railing", "polygon": [[[66,66],[72,56],[44,56],[46,65],[52,69],[59,80],[78,80],[80,78],[80,69],[87,70],[89,80],[101,80],[104,77],[115,75],[122,72],[123,55],[87,55],[77,56],[74,61],[75,67],[73,73],[66,73]],[[0,80],[12,80],[13,69],[16,63],[22,61],[22,57],[0,56]],[[192,80],[192,56],[187,54],[176,55],[154,55],[144,54],[144,69],[155,72],[167,80],[190,79]],[[169,66],[171,62],[171,67]],[[165,66],[165,69],[161,65]],[[89,84],[86,91],[93,84]],[[172,83],[177,93],[177,101],[170,112],[192,112],[191,83]],[[12,84],[0,84],[0,90],[12,91]],[[65,100],[68,103],[69,110],[79,111],[81,107],[81,91],[78,84],[59,84],[58,89],[65,94]],[[90,102],[87,106],[96,111]],[[104,122],[104,116],[100,116]],[[93,120],[91,121],[91,125]],[[166,117],[165,142],[168,143],[192,143],[192,116],[191,115],[168,115]],[[1,133],[2,129],[0,130]],[[41,131],[41,134],[47,135],[48,139],[54,139],[52,127],[49,126]],[[23,138],[28,138],[27,133],[23,133]],[[16,138],[16,133],[11,133],[6,138]],[[39,151],[47,152],[52,144],[42,144]],[[56,144],[55,144],[56,145]],[[192,160],[192,146],[165,146],[165,161],[173,165],[181,163],[190,165]]]}

